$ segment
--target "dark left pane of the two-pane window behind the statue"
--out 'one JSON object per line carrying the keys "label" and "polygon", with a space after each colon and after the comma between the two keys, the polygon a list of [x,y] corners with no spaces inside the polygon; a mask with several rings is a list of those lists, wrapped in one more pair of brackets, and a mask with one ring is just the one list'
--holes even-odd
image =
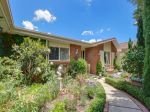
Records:
{"label": "dark left pane of the two-pane window behind the statue", "polygon": [[51,47],[49,59],[50,60],[59,60],[59,48],[58,47]]}

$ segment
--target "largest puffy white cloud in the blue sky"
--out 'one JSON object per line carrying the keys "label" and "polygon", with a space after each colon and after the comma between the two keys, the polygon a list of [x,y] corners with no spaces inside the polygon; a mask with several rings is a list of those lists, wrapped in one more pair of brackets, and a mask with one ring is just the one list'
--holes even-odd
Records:
{"label": "largest puffy white cloud in the blue sky", "polygon": [[48,10],[38,9],[34,12],[34,14],[35,17],[33,18],[33,20],[35,21],[45,20],[50,23],[56,20],[56,17],[52,15]]}

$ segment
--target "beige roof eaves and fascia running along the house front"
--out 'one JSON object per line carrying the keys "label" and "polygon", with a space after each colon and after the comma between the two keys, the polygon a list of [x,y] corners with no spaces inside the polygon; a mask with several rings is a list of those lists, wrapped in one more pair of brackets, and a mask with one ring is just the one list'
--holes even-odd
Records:
{"label": "beige roof eaves and fascia running along the house front", "polygon": [[56,36],[56,35],[51,35],[51,34],[47,34],[43,32],[16,27],[13,23],[13,17],[12,17],[11,9],[9,6],[9,0],[0,0],[0,16],[3,17],[3,19],[0,20],[0,25],[3,27],[3,31],[11,33],[11,34],[32,36],[35,38],[41,38],[41,39],[49,40],[52,42],[77,44],[83,47],[94,47],[99,44],[112,41],[114,45],[116,46],[116,48],[120,49],[120,46],[116,38],[110,38],[110,39],[102,40],[102,41],[95,42],[95,43],[87,43],[87,42],[83,42],[79,40],[69,39],[69,38],[62,37],[62,36]]}

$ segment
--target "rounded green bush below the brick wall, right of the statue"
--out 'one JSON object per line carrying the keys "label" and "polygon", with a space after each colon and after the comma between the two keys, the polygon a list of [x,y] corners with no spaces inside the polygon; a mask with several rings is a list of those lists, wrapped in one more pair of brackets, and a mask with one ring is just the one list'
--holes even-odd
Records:
{"label": "rounded green bush below the brick wall, right of the statue", "polygon": [[87,63],[84,59],[78,60],[72,59],[70,61],[68,74],[73,78],[75,78],[77,74],[85,74],[86,71],[87,71]]}

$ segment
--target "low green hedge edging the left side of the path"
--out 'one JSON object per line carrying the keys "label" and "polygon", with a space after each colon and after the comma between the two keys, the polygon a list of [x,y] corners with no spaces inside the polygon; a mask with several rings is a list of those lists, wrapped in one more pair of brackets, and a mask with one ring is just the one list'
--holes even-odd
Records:
{"label": "low green hedge edging the left side of the path", "polygon": [[106,100],[105,90],[100,83],[97,83],[96,87],[93,88],[93,91],[95,92],[95,97],[86,112],[103,112]]}

